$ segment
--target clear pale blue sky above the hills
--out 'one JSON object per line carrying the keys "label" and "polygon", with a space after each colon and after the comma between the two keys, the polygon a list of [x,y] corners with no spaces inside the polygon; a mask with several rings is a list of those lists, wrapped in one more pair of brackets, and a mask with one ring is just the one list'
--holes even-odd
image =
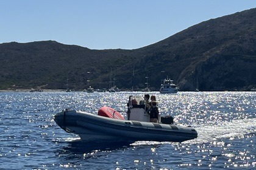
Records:
{"label": "clear pale blue sky above the hills", "polygon": [[89,49],[138,49],[255,0],[0,0],[0,43],[54,40]]}

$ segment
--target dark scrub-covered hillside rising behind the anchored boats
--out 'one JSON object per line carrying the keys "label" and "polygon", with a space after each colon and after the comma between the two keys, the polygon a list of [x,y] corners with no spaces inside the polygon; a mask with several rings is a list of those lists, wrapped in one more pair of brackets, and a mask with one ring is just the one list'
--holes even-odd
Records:
{"label": "dark scrub-covered hillside rising behind the anchored boats", "polygon": [[250,90],[256,87],[256,9],[201,22],[134,50],[3,43],[0,61],[0,89],[108,88],[110,78],[120,88],[142,89],[148,75],[153,90],[167,76],[180,90]]}

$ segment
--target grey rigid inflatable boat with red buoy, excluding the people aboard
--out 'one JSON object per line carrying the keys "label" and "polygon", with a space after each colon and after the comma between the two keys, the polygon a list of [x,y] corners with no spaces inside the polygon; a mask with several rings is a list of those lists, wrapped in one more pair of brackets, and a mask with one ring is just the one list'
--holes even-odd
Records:
{"label": "grey rigid inflatable boat with red buoy, excluding the people aboard", "polygon": [[159,117],[158,123],[150,122],[147,104],[137,103],[141,102],[129,97],[126,119],[120,110],[104,106],[98,110],[98,115],[65,109],[57,113],[54,120],[66,132],[79,135],[82,141],[182,142],[197,138],[193,127],[175,125],[172,117]]}

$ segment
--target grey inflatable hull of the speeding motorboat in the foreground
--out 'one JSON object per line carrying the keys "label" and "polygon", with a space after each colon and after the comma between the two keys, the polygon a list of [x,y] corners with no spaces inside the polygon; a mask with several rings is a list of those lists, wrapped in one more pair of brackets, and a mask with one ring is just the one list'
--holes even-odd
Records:
{"label": "grey inflatable hull of the speeding motorboat in the foreground", "polygon": [[143,121],[117,120],[76,110],[63,110],[54,116],[66,132],[83,141],[176,141],[197,137],[192,127]]}

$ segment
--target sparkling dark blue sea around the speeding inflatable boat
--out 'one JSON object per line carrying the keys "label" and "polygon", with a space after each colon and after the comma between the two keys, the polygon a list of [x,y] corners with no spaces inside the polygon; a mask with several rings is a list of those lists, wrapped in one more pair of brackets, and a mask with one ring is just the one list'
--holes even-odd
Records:
{"label": "sparkling dark blue sea around the speeding inflatable boat", "polygon": [[198,137],[84,143],[54,121],[67,108],[126,111],[129,96],[144,92],[0,92],[0,169],[256,169],[256,92],[147,93]]}

